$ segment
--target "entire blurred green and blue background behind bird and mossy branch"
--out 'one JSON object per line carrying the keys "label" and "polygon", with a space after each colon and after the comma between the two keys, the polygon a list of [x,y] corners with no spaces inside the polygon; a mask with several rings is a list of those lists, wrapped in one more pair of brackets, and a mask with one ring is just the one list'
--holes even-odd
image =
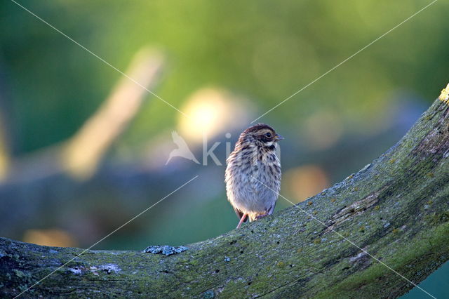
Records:
{"label": "entire blurred green and blue background behind bird and mossy branch", "polygon": [[[145,61],[159,65],[142,85],[192,120],[151,93],[135,95],[116,69],[1,1],[0,234],[87,247],[196,174],[96,248],[188,244],[232,230],[225,166],[210,157],[207,166],[180,157],[166,164],[176,148],[171,131],[200,162],[206,132],[225,164],[227,146],[250,121],[429,3],[20,1],[123,72],[145,80]],[[258,120],[286,137],[282,194],[302,201],[408,131],[448,83],[448,9],[445,1],[429,6]],[[118,108],[104,117],[108,100]],[[279,199],[277,209],[286,206]],[[423,287],[449,296],[448,275],[446,264]]]}

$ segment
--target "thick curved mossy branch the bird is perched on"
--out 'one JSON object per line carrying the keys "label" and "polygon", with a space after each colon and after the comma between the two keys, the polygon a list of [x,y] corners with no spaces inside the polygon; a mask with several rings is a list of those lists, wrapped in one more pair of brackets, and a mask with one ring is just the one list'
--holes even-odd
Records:
{"label": "thick curved mossy branch the bird is perched on", "polygon": [[436,100],[363,170],[182,253],[76,257],[82,249],[0,239],[0,295],[18,295],[76,257],[26,296],[396,297],[413,288],[403,277],[417,284],[449,259],[448,157],[449,106]]}

